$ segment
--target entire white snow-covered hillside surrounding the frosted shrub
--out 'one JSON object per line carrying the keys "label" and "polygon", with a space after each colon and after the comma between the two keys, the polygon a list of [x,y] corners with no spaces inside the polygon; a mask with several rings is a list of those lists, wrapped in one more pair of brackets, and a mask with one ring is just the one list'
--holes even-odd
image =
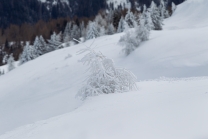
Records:
{"label": "entire white snow-covered hillside surrounding the frosted shrub", "polygon": [[93,40],[0,76],[0,139],[207,139],[207,6],[181,4],[128,57],[123,33],[95,39],[96,51],[138,77],[138,91],[75,98],[86,76],[77,51]]}

